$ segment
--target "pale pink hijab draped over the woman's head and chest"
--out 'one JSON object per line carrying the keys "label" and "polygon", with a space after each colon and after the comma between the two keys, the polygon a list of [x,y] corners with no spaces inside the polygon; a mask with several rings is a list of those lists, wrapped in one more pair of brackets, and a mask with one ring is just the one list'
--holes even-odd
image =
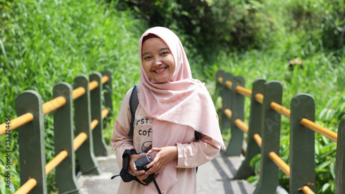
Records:
{"label": "pale pink hijab draped over the woman's head and chest", "polygon": [[[204,84],[197,79],[193,79],[186,52],[184,52],[179,37],[168,28],[150,28],[144,32],[139,41],[139,56],[141,56],[143,38],[148,34],[157,35],[166,43],[175,59],[175,71],[172,77],[168,79],[168,82],[157,83],[157,81],[146,75],[141,59],[141,84],[137,84],[137,88],[139,103],[146,114],[159,121],[190,126],[199,133],[214,139],[225,150],[213,101]],[[155,122],[154,124],[155,126],[152,126],[154,130],[166,127],[161,122]],[[172,127],[175,126],[179,125],[172,125]],[[181,128],[176,127],[174,130],[176,133],[166,137],[168,139],[155,137],[155,135],[161,133],[153,133],[152,147],[161,147],[165,146],[165,142],[174,142],[174,139],[179,136],[178,131]],[[155,139],[159,140],[155,141]],[[175,173],[172,171],[175,171]],[[163,175],[157,177],[157,182],[161,191],[165,193],[177,181],[175,164],[167,165],[164,171],[159,174]],[[152,185],[146,186],[145,193],[155,191],[155,186]]]}

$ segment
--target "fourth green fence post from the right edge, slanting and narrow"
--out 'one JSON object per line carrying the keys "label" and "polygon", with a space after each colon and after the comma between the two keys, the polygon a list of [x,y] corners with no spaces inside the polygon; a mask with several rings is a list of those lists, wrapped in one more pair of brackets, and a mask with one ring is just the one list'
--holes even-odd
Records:
{"label": "fourth green fence post from the right edge, slanting and narrow", "polygon": [[262,126],[262,104],[259,104],[259,102],[255,100],[255,95],[258,93],[264,93],[265,82],[266,80],[264,79],[255,79],[253,82],[253,92],[250,99],[246,158],[242,162],[241,166],[239,166],[235,179],[246,179],[255,174],[253,169],[250,167],[250,161],[255,157],[255,155],[260,153],[260,148],[254,140],[254,135],[255,133],[261,135],[261,128],[258,126]]}

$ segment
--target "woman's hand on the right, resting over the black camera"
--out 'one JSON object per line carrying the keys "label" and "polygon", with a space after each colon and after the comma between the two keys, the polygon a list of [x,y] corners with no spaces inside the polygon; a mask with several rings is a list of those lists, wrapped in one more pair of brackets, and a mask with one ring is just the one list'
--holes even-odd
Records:
{"label": "woman's hand on the right, resting over the black camera", "polygon": [[166,164],[169,164],[173,159],[177,158],[177,146],[166,146],[162,148],[152,148],[150,151],[148,151],[148,154],[158,152],[155,159],[148,164],[147,168],[150,168],[150,170],[146,171],[147,175],[150,175],[152,173],[159,173]]}

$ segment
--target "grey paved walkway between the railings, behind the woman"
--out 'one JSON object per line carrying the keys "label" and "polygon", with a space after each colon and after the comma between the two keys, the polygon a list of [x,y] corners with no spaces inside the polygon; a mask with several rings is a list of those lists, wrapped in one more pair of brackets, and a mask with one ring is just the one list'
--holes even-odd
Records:
{"label": "grey paved walkway between the railings, behind the woman", "polygon": [[[108,157],[97,157],[102,170],[101,175],[81,175],[78,179],[83,194],[109,194],[117,193],[120,177],[110,180],[112,175],[120,172],[115,162],[115,153],[109,148]],[[233,180],[244,157],[226,157],[219,153],[212,161],[199,166],[197,172],[198,194],[250,194],[255,190],[255,185],[248,184],[246,180]]]}

